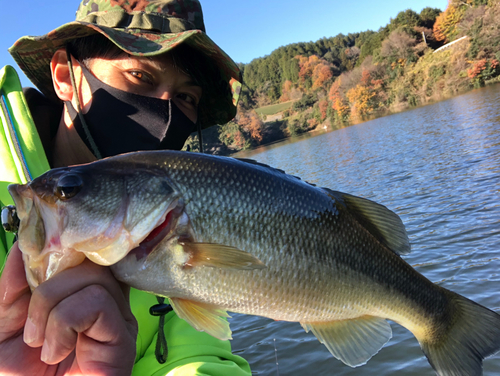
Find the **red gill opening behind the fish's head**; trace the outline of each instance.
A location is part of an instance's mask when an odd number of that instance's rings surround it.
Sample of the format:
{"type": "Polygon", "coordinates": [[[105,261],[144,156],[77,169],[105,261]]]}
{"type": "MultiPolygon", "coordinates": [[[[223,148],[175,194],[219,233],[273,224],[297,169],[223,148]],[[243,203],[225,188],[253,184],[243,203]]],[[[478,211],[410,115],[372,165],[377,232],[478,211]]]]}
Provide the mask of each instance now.
{"type": "Polygon", "coordinates": [[[187,215],[184,213],[184,205],[180,201],[175,201],[167,209],[163,222],[160,222],[126,257],[135,256],[137,261],[147,257],[164,239],[170,239],[177,233],[176,229],[178,229],[178,224],[181,222],[179,219],[182,217],[187,219],[187,215]]]}

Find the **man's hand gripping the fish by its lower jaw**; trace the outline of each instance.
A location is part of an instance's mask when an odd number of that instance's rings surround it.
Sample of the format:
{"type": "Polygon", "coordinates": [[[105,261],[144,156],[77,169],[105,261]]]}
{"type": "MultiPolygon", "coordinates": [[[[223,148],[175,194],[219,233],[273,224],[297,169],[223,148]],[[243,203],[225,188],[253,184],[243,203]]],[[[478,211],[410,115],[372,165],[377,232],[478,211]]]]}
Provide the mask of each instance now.
{"type": "Polygon", "coordinates": [[[128,296],[88,260],[31,294],[16,243],[0,278],[0,374],[130,374],[137,323],[128,296]]]}

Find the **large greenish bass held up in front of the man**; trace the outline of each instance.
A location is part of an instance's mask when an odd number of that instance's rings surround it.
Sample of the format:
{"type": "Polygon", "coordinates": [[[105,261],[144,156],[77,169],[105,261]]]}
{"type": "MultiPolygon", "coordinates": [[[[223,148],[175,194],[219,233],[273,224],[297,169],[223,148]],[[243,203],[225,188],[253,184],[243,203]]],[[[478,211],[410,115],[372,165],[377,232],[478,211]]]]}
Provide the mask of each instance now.
{"type": "Polygon", "coordinates": [[[252,160],[123,154],[10,185],[36,288],[85,258],[167,297],[195,329],[231,339],[227,312],[299,322],[344,364],[408,329],[438,375],[481,375],[500,315],[404,261],[399,216],[252,160]]]}

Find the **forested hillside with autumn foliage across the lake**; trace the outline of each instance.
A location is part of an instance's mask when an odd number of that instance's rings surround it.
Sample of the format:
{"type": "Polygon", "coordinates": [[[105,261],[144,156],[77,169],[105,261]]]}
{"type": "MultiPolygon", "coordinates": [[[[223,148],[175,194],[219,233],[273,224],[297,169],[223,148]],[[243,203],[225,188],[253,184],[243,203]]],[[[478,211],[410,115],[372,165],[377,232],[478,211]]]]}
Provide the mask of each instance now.
{"type": "Polygon", "coordinates": [[[238,115],[211,131],[212,143],[237,151],[440,100],[500,81],[499,61],[500,0],[408,9],[378,31],[294,43],[240,64],[238,115]]]}

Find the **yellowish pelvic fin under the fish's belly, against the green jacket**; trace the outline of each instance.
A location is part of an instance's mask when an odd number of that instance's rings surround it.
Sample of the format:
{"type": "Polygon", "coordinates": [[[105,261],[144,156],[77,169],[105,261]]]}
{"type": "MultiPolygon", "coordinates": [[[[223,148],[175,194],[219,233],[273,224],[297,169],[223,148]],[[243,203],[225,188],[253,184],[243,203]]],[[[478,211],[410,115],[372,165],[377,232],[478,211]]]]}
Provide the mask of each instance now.
{"type": "Polygon", "coordinates": [[[223,341],[232,339],[229,323],[225,319],[230,316],[225,310],[181,298],[170,298],[170,304],[177,316],[186,320],[196,330],[223,341]]]}

